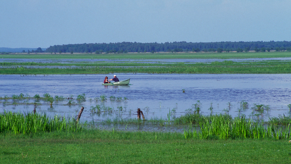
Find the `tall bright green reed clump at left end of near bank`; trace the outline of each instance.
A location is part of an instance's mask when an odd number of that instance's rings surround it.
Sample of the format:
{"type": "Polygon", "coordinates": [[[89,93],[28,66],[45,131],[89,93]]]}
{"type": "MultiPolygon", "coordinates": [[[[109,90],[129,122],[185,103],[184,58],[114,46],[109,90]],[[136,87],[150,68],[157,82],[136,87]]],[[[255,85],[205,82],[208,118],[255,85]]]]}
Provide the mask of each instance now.
{"type": "Polygon", "coordinates": [[[54,116],[38,113],[14,113],[6,112],[0,114],[0,133],[12,132],[15,134],[53,132],[53,131],[81,131],[81,124],[73,118],[54,116]]]}

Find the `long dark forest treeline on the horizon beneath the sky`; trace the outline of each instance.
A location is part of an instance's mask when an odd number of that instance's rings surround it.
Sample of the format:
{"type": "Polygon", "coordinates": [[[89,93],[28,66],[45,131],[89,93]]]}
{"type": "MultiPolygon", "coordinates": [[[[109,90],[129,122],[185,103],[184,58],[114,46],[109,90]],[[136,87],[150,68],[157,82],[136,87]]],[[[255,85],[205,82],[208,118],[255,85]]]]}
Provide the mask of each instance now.
{"type": "Polygon", "coordinates": [[[54,45],[46,49],[50,53],[127,53],[127,52],[247,52],[247,51],[291,51],[291,41],[256,41],[256,42],[210,42],[210,43],[192,43],[192,42],[166,42],[166,43],[84,43],[54,45]]]}

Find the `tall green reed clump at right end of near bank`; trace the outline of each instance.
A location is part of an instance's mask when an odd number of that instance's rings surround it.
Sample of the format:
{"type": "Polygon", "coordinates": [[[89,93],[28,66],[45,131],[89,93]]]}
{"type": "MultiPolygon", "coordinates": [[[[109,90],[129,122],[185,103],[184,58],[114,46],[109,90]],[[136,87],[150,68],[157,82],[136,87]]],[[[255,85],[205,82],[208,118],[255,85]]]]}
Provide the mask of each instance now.
{"type": "Polygon", "coordinates": [[[264,124],[246,119],[244,116],[230,119],[222,114],[201,117],[196,128],[192,122],[188,129],[184,129],[186,139],[290,139],[290,124],[277,125],[275,122],[264,124]]]}

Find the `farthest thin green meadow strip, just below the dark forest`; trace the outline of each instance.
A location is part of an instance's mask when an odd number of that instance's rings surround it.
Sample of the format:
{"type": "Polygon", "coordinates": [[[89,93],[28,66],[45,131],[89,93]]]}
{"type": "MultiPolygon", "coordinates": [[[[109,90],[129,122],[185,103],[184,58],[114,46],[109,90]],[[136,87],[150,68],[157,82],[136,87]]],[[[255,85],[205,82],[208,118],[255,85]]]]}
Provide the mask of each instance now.
{"type": "Polygon", "coordinates": [[[247,52],[247,53],[126,53],[126,54],[0,54],[9,59],[246,59],[291,57],[291,52],[247,52]]]}

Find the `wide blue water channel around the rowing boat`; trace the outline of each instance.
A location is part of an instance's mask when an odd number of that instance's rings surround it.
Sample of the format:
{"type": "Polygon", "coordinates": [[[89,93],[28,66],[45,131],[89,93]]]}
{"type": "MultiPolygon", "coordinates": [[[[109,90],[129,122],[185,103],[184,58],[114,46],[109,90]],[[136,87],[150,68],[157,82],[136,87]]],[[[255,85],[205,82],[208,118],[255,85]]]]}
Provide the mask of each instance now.
{"type": "MultiPolygon", "coordinates": [[[[77,105],[65,105],[69,100],[49,103],[40,101],[37,112],[49,115],[59,114],[75,116],[84,106],[82,120],[106,120],[118,118],[136,118],[137,108],[141,108],[146,119],[167,119],[169,110],[175,110],[175,117],[185,114],[185,110],[194,110],[193,104],[200,101],[201,113],[209,115],[210,105],[213,114],[229,112],[233,117],[245,114],[253,117],[251,107],[255,104],[269,105],[264,118],[290,116],[288,104],[291,104],[291,74],[117,74],[120,80],[131,78],[128,86],[102,86],[104,77],[112,75],[0,75],[0,96],[28,94],[34,96],[48,93],[51,96],[73,97],[78,103],[78,95],[85,94],[86,101],[77,105]],[[182,91],[185,91],[184,93],[182,91]],[[96,97],[107,96],[107,101],[96,101],[96,97]],[[120,102],[111,101],[110,96],[121,97],[120,102]],[[124,98],[128,100],[124,100],[124,98]],[[241,109],[242,100],[249,103],[247,109],[241,109]],[[230,107],[229,107],[230,103],[230,107]],[[110,107],[113,112],[91,113],[91,106],[110,107]],[[122,110],[120,110],[122,107],[122,110]]],[[[8,102],[13,100],[8,100],[8,102]]],[[[19,100],[22,103],[27,100],[19,100]]],[[[34,102],[35,100],[28,100],[34,102]]],[[[34,105],[6,105],[0,100],[0,112],[31,112],[34,105]]],[[[173,114],[173,113],[172,113],[173,114]]],[[[173,115],[172,115],[173,117],[173,115]]]]}

